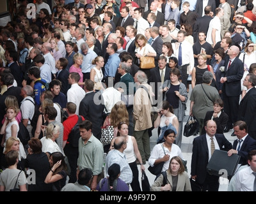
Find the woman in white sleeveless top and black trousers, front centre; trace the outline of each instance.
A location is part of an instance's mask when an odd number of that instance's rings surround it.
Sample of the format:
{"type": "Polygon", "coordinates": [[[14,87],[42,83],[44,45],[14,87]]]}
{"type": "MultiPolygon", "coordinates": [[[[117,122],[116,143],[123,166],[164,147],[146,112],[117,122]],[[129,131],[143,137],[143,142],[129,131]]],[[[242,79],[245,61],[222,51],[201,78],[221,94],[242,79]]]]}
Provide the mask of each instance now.
{"type": "MultiPolygon", "coordinates": [[[[139,182],[139,172],[136,159],[140,163],[140,170],[145,171],[145,166],[143,166],[140,151],[134,136],[128,135],[128,124],[126,122],[120,122],[117,126],[118,133],[117,136],[124,136],[127,140],[127,147],[124,150],[127,162],[132,170],[132,182],[131,187],[132,191],[141,191],[140,182],[139,182]]],[[[111,145],[114,144],[115,138],[111,141],[111,145]]]]}

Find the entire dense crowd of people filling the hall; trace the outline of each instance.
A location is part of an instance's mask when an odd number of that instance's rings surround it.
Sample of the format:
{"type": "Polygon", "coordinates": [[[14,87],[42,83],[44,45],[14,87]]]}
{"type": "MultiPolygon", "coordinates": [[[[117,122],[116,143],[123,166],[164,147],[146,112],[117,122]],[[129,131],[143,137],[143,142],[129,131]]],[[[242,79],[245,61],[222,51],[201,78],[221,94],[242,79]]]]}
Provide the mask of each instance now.
{"type": "Polygon", "coordinates": [[[255,1],[18,2],[0,27],[1,191],[15,180],[20,191],[141,191],[147,162],[166,172],[152,191],[193,191],[180,150],[187,108],[198,122],[191,179],[218,191],[206,166],[227,150],[251,165],[233,191],[253,191],[255,1]],[[143,69],[146,57],[154,65],[143,69]],[[107,125],[113,140],[102,145],[107,125]],[[31,170],[36,184],[25,182],[31,170]]]}

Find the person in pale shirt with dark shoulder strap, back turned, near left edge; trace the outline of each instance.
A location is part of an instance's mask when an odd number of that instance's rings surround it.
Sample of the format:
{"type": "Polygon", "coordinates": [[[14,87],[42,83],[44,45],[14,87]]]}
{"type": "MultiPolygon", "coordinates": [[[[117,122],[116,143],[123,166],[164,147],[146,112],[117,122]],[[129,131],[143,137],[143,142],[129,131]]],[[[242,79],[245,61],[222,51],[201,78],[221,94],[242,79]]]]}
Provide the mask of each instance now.
{"type": "Polygon", "coordinates": [[[22,98],[24,98],[20,104],[20,111],[22,112],[22,123],[28,129],[30,137],[32,137],[32,126],[30,121],[33,119],[35,113],[35,101],[31,97],[33,93],[34,89],[31,87],[31,85],[24,85],[20,92],[20,95],[22,98]]]}

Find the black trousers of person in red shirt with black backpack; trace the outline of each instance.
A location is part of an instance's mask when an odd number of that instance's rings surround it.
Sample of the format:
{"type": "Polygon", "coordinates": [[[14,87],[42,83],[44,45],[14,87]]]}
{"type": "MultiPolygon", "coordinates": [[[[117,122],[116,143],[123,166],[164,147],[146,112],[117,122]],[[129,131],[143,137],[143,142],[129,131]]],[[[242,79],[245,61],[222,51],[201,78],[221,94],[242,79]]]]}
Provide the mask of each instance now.
{"type": "Polygon", "coordinates": [[[64,153],[68,157],[68,163],[70,165],[70,175],[68,183],[75,183],[76,178],[76,168],[77,168],[77,159],[78,159],[78,147],[72,147],[70,143],[65,145],[64,153]]]}

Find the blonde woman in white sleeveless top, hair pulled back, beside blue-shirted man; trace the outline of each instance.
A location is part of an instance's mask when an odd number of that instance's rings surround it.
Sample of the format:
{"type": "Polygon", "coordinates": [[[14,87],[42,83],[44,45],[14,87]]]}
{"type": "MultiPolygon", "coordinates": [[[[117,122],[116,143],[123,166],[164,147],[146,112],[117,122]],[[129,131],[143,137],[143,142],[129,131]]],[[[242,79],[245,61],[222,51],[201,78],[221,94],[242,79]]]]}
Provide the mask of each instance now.
{"type": "Polygon", "coordinates": [[[103,79],[102,68],[104,66],[104,58],[102,56],[97,56],[95,57],[95,59],[92,60],[92,64],[95,64],[90,72],[90,80],[94,82],[93,89],[95,91],[104,90],[101,82],[103,79]]]}

